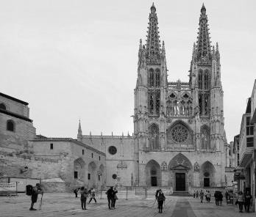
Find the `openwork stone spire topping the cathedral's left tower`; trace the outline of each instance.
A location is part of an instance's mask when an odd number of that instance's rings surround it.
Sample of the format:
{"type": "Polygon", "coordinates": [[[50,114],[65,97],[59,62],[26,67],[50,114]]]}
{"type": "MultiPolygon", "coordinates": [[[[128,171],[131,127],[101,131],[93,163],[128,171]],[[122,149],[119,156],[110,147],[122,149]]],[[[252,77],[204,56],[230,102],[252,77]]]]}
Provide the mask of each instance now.
{"type": "Polygon", "coordinates": [[[150,8],[148,36],[146,40],[147,62],[158,62],[160,60],[160,40],[158,36],[157,13],[154,3],[150,8]]]}

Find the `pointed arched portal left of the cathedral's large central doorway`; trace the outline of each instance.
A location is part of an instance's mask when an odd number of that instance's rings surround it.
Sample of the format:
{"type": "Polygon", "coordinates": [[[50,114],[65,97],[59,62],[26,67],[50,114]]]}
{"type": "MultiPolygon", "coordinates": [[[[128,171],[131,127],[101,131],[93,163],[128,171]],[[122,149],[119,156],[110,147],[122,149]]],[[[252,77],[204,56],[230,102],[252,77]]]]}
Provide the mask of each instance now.
{"type": "Polygon", "coordinates": [[[161,169],[157,161],[151,160],[148,163],[146,163],[146,185],[161,185],[161,169]]]}

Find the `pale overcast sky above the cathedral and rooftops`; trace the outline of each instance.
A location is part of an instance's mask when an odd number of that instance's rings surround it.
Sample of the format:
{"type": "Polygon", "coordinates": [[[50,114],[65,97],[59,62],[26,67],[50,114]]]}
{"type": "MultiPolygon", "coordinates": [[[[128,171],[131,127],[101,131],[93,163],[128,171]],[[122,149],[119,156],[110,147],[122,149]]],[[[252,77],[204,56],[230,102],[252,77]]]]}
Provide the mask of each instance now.
{"type": "MultiPolygon", "coordinates": [[[[154,1],[168,81],[188,81],[203,1],[154,1]]],[[[256,78],[256,1],[204,1],[221,54],[228,141],[240,131],[256,78]]],[[[139,40],[152,1],[0,1],[0,92],[29,103],[38,134],[127,135],[139,40]]]]}

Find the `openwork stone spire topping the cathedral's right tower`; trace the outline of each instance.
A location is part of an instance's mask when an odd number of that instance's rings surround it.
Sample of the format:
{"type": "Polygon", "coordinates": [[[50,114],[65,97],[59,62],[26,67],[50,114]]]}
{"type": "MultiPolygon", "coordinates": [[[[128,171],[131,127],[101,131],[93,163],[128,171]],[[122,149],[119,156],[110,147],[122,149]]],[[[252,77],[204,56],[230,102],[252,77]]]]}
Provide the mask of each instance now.
{"type": "Polygon", "coordinates": [[[211,60],[211,50],[210,50],[210,37],[207,24],[207,15],[205,5],[202,5],[201,15],[199,19],[199,35],[196,44],[196,59],[202,62],[208,62],[211,60]]]}

